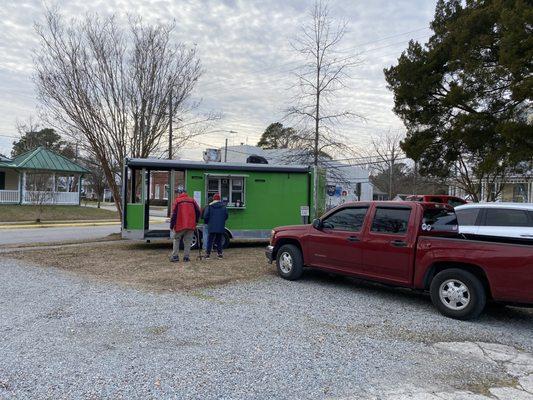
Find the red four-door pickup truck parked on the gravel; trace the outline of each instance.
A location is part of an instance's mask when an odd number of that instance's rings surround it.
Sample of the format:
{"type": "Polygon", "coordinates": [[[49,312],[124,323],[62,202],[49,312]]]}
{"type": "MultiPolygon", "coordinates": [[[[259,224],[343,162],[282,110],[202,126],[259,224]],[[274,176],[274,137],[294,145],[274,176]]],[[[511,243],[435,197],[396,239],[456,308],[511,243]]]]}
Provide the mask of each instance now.
{"type": "Polygon", "coordinates": [[[487,300],[533,305],[533,240],[461,235],[443,204],[344,204],[312,225],[275,228],[266,255],[289,280],[305,266],[429,290],[457,319],[479,316],[487,300]]]}

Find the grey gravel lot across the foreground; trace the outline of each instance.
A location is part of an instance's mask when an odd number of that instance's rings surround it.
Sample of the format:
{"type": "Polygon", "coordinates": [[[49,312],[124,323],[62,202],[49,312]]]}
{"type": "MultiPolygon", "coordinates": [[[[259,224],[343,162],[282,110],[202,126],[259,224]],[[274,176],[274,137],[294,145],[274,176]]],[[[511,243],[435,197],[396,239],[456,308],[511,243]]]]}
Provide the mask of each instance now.
{"type": "Polygon", "coordinates": [[[533,360],[533,310],[454,321],[423,295],[318,272],[157,294],[0,258],[0,315],[2,399],[482,399],[526,373],[443,342],[533,360]]]}

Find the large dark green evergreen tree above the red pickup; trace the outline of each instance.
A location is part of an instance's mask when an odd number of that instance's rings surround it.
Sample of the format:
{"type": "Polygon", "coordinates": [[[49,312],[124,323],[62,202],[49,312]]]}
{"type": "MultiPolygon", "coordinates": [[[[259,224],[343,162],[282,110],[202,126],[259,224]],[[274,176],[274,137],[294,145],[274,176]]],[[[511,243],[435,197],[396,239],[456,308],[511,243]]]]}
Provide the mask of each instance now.
{"type": "Polygon", "coordinates": [[[385,69],[421,173],[456,176],[478,200],[481,180],[531,161],[531,21],[531,1],[439,0],[429,42],[385,69]]]}

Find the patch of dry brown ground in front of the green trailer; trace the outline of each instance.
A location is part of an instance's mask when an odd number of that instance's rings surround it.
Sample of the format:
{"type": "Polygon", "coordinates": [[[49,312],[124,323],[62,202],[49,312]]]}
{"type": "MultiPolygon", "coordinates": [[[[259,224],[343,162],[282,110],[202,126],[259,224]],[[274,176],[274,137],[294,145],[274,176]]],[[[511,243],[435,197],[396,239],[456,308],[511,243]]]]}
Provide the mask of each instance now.
{"type": "Polygon", "coordinates": [[[222,260],[198,260],[196,250],[189,263],[171,263],[170,252],[170,243],[117,241],[19,249],[3,256],[151,291],[193,290],[275,273],[263,245],[226,249],[222,260]]]}

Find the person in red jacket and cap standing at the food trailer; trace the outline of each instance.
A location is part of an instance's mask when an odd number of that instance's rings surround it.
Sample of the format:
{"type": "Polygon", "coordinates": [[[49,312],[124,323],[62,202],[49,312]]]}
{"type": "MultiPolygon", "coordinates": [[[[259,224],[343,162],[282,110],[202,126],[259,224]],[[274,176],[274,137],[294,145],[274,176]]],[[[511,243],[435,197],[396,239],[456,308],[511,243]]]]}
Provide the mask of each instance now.
{"type": "Polygon", "coordinates": [[[174,201],[172,217],[170,218],[170,231],[174,239],[170,261],[178,262],[180,260],[180,242],[183,239],[183,261],[187,262],[190,260],[189,254],[194,230],[200,219],[200,207],[194,199],[187,195],[183,186],[178,186],[176,193],[178,197],[174,201]]]}

